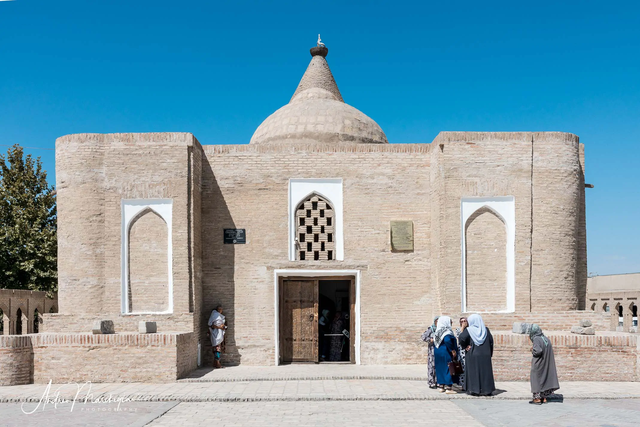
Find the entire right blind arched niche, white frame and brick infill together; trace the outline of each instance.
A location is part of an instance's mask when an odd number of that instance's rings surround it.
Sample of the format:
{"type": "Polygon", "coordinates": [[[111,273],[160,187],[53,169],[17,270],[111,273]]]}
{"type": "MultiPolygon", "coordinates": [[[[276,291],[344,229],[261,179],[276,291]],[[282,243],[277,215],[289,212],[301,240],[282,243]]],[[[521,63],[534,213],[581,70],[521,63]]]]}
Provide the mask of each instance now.
{"type": "Polygon", "coordinates": [[[515,312],[515,228],[513,196],[461,198],[463,312],[515,312]],[[485,278],[483,272],[495,277],[485,278]]]}

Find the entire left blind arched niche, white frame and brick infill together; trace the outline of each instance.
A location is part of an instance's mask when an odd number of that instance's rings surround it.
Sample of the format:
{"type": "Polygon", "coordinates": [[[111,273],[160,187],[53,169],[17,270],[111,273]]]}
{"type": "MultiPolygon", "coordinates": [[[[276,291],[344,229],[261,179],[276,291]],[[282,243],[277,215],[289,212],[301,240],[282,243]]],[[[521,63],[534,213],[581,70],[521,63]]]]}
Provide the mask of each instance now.
{"type": "MultiPolygon", "coordinates": [[[[172,252],[172,211],[173,200],[170,198],[132,198],[122,199],[122,229],[120,230],[121,245],[121,262],[120,262],[120,282],[121,282],[121,311],[123,314],[166,314],[173,312],[173,252],[172,252]],[[141,255],[145,251],[151,261],[155,261],[156,266],[162,268],[149,268],[143,263],[140,266],[131,266],[130,249],[131,249],[131,232],[134,232],[134,238],[141,237],[140,243],[134,243],[134,251],[138,251],[141,255]],[[145,232],[152,234],[148,239],[144,239],[145,232]],[[160,241],[158,240],[160,238],[160,241]],[[166,241],[166,243],[165,243],[166,241]],[[166,245],[166,246],[165,246],[166,245]],[[161,259],[157,259],[161,254],[161,259]],[[166,265],[164,264],[164,254],[166,254],[166,265]],[[133,267],[133,269],[132,269],[133,267]],[[131,273],[136,271],[156,270],[145,293],[143,289],[132,289],[131,273]],[[166,271],[166,275],[164,275],[166,271]],[[166,287],[166,293],[164,288],[166,287]],[[156,295],[159,289],[163,289],[160,295],[156,295]],[[133,292],[132,292],[133,291],[133,292]],[[136,295],[144,298],[138,304],[136,295]],[[166,298],[165,298],[166,295],[166,298]],[[134,306],[133,303],[136,303],[134,306]],[[142,307],[140,309],[139,307],[142,307]]],[[[135,254],[134,254],[135,255],[135,254]]],[[[145,257],[141,256],[141,262],[147,262],[145,257]]],[[[133,262],[136,262],[134,259],[133,262]]],[[[152,271],[154,272],[154,271],[152,271]]],[[[140,285],[144,280],[136,280],[140,285]]]]}

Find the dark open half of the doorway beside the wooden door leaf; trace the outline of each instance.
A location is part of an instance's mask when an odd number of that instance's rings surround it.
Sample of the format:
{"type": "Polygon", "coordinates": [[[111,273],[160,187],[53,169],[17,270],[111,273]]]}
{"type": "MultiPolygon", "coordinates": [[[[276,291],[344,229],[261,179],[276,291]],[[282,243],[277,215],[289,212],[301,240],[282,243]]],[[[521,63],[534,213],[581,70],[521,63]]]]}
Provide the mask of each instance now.
{"type": "Polygon", "coordinates": [[[318,281],[318,360],[349,362],[351,280],[318,281]],[[345,333],[346,332],[346,333],[345,333]]]}

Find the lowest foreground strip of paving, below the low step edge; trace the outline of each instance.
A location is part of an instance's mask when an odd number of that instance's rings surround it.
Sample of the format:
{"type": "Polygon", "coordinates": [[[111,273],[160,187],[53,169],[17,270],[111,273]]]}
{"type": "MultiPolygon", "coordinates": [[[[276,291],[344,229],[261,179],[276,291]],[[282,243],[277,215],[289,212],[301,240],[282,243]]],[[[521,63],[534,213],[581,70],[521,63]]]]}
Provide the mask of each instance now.
{"type": "Polygon", "coordinates": [[[0,425],[111,426],[548,426],[626,427],[640,419],[640,399],[136,402],[91,407],[58,405],[23,414],[20,403],[0,404],[0,425]]]}

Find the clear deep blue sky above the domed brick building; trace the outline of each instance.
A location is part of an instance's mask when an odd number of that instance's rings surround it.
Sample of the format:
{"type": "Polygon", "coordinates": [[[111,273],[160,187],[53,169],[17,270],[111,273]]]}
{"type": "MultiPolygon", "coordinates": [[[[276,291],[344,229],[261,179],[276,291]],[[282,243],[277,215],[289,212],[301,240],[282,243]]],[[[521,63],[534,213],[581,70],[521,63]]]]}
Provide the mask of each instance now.
{"type": "MultiPolygon", "coordinates": [[[[578,134],[595,184],[589,272],[640,271],[636,2],[0,1],[0,144],[149,131],[248,143],[289,101],[317,33],[345,101],[391,142],[578,134]]],[[[27,152],[53,182],[54,152],[27,152]]]]}

